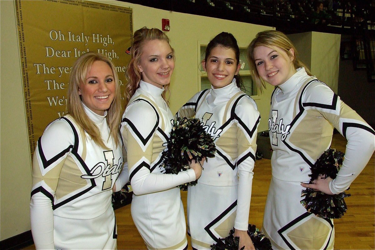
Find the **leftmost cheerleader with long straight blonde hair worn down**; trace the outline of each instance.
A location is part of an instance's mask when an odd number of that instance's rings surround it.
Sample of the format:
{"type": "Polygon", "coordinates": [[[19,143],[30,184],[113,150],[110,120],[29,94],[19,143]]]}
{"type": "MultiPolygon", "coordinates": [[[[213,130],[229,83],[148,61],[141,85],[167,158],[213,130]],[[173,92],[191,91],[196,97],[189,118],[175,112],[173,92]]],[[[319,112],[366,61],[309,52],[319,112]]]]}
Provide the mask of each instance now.
{"type": "Polygon", "coordinates": [[[120,174],[120,86],[108,57],[87,52],[78,58],[67,109],[46,127],[34,152],[30,219],[35,247],[117,249],[112,192],[128,177],[126,166],[120,174]]]}

